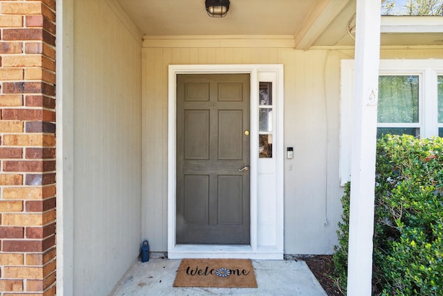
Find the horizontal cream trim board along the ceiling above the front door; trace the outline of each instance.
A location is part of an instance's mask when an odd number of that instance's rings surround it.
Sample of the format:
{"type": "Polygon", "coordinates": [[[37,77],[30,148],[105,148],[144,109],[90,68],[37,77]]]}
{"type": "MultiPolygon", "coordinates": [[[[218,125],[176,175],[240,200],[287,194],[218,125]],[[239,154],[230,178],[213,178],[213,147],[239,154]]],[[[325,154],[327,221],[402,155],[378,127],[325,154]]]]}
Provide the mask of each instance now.
{"type": "Polygon", "coordinates": [[[145,35],[144,48],[186,47],[186,48],[291,48],[293,35],[145,35]]]}

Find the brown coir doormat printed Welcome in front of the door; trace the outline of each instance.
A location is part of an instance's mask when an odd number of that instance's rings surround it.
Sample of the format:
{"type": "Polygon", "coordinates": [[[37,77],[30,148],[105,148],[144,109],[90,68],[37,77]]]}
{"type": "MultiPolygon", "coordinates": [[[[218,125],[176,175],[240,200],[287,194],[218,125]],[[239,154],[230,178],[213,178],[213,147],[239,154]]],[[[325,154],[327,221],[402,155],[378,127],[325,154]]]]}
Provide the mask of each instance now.
{"type": "Polygon", "coordinates": [[[248,259],[183,259],[174,287],[257,288],[248,259]]]}

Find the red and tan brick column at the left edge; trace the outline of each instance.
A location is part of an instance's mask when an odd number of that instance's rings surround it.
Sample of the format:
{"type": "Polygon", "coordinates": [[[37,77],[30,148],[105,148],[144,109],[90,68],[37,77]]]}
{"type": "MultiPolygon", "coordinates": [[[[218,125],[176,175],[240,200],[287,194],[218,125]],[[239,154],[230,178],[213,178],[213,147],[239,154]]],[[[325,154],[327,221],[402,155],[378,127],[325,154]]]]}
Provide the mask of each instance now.
{"type": "Polygon", "coordinates": [[[0,1],[0,295],[55,295],[55,0],[0,1]]]}

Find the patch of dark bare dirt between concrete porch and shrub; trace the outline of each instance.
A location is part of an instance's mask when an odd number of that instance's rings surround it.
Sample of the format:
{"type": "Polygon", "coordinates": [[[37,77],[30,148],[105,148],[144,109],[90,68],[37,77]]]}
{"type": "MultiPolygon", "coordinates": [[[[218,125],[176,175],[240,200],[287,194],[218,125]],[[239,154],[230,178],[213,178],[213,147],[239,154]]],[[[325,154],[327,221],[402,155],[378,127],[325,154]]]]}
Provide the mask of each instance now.
{"type": "Polygon", "coordinates": [[[300,258],[300,260],[307,263],[328,296],[343,296],[341,290],[337,288],[334,278],[330,276],[334,274],[332,255],[305,256],[300,258]]]}

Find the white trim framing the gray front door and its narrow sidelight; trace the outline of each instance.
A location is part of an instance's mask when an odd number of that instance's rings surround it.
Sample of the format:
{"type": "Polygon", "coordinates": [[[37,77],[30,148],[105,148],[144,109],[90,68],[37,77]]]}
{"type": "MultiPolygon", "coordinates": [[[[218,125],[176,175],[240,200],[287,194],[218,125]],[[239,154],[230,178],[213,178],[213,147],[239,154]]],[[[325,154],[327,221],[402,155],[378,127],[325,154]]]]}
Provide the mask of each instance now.
{"type": "MultiPolygon", "coordinates": [[[[170,65],[168,71],[168,258],[283,258],[283,66],[282,64],[170,65]],[[176,243],[176,149],[177,74],[248,73],[251,76],[251,245],[177,245],[176,243]],[[258,82],[275,77],[275,131],[273,159],[258,157],[258,82]],[[260,168],[261,167],[261,168],[260,168]],[[265,198],[260,199],[258,179],[262,168],[271,167],[265,198]],[[271,195],[271,196],[269,196],[271,195]],[[266,204],[264,203],[266,200],[266,204]],[[271,200],[271,204],[269,203],[271,200]],[[266,214],[264,214],[266,209],[266,214]],[[266,217],[264,217],[266,216],[266,217]]],[[[263,195],[263,194],[262,194],[263,195]]]]}

